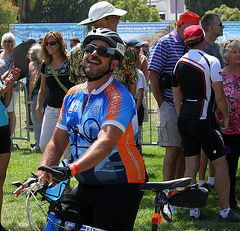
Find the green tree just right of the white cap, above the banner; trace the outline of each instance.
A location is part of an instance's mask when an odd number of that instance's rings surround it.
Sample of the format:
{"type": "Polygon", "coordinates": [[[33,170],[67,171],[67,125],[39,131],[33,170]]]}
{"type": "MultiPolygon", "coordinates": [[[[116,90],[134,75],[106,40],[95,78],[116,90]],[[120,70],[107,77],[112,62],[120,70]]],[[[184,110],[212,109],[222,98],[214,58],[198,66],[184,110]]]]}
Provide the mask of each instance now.
{"type": "Polygon", "coordinates": [[[115,7],[126,10],[128,13],[121,17],[122,21],[129,22],[160,22],[161,17],[155,7],[149,8],[147,0],[108,0],[115,7]]]}

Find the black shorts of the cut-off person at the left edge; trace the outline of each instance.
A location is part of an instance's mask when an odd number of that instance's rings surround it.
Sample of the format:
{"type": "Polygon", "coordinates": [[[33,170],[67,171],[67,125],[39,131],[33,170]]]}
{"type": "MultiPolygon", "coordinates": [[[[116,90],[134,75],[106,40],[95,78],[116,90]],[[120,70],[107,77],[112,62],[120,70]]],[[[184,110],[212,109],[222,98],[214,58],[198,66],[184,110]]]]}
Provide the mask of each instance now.
{"type": "Polygon", "coordinates": [[[10,127],[9,124],[0,127],[0,154],[10,153],[11,151],[11,139],[10,139],[10,127]]]}

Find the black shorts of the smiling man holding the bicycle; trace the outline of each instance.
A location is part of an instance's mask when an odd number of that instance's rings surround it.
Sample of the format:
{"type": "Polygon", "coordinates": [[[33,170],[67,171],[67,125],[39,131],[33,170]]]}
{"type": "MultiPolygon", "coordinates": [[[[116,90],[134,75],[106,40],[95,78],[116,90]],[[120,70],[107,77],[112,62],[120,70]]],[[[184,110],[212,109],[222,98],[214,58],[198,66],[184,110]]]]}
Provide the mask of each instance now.
{"type": "Polygon", "coordinates": [[[90,186],[78,183],[82,223],[108,231],[132,231],[143,192],[139,184],[90,186]]]}

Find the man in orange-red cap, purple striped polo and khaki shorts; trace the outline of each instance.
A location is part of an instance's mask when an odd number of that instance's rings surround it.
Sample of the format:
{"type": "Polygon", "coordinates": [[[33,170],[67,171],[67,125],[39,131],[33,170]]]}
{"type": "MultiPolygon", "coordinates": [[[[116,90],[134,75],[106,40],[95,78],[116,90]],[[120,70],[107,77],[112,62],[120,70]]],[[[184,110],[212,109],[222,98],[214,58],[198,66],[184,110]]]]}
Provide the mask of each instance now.
{"type": "Polygon", "coordinates": [[[165,181],[182,177],[185,170],[182,140],[173,103],[171,75],[177,61],[188,51],[184,44],[184,29],[193,24],[198,25],[199,19],[200,17],[193,12],[182,14],[177,22],[177,29],[160,38],[153,45],[149,56],[149,79],[158,106],[158,144],[166,147],[163,161],[165,181]]]}

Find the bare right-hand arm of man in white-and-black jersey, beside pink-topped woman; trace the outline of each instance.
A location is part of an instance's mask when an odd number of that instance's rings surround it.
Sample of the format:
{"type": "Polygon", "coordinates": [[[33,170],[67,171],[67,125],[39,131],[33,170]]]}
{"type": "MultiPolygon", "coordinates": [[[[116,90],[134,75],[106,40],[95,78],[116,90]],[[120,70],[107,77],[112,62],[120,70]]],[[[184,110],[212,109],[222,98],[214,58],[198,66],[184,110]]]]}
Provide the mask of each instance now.
{"type": "Polygon", "coordinates": [[[217,103],[217,107],[222,114],[223,121],[219,124],[220,129],[222,132],[226,131],[228,128],[229,123],[229,116],[228,116],[228,103],[225,92],[223,90],[223,82],[213,82],[212,87],[215,93],[215,99],[217,103]]]}

